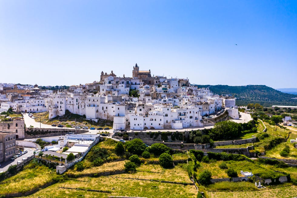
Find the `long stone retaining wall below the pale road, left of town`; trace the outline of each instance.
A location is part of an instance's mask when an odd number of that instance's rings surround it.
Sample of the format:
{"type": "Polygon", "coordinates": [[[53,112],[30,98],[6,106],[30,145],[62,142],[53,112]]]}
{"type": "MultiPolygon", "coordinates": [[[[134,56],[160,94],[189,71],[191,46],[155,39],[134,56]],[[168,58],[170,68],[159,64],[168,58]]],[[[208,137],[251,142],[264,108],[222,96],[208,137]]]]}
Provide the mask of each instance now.
{"type": "Polygon", "coordinates": [[[46,137],[46,136],[59,136],[66,133],[85,133],[86,130],[83,129],[51,129],[51,128],[25,128],[25,138],[36,138],[39,137],[46,137]]]}

